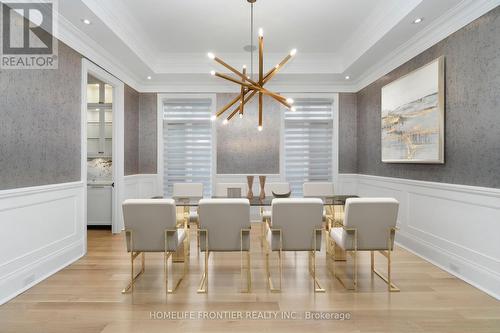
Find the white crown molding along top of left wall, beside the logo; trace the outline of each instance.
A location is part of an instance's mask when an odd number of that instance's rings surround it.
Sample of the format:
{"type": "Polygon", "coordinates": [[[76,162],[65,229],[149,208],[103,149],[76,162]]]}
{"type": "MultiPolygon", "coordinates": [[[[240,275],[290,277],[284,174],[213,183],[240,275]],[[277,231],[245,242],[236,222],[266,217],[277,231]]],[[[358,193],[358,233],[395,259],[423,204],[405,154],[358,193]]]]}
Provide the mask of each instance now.
{"type": "Polygon", "coordinates": [[[134,89],[139,88],[140,81],[133,73],[131,73],[125,64],[116,57],[111,55],[106,49],[99,46],[93,39],[79,30],[58,12],[57,16],[58,29],[55,34],[56,38],[73,48],[82,56],[88,58],[98,66],[102,67],[119,80],[123,81],[134,89]]]}

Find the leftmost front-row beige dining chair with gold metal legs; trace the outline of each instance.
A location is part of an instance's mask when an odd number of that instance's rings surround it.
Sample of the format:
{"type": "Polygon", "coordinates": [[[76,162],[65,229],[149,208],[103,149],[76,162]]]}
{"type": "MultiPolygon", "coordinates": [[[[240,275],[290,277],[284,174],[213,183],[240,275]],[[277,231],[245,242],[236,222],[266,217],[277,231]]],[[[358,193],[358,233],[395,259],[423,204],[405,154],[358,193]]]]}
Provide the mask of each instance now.
{"type": "MultiPolygon", "coordinates": [[[[184,257],[184,271],[182,277],[173,288],[168,287],[168,258],[181,245],[186,244],[187,226],[177,228],[175,216],[175,202],[173,199],[129,199],[122,205],[123,220],[125,223],[125,241],[127,252],[130,252],[131,276],[129,285],[123,293],[134,291],[134,283],[144,273],[145,252],[163,252],[165,268],[165,287],[167,293],[177,289],[187,271],[187,257],[184,257]],[[134,259],[142,257],[141,271],[134,275],[134,259]]],[[[184,251],[186,255],[187,251],[184,251]]],[[[172,263],[173,265],[173,263],[172,263]]],[[[173,267],[173,266],[172,266],[173,267]]]]}

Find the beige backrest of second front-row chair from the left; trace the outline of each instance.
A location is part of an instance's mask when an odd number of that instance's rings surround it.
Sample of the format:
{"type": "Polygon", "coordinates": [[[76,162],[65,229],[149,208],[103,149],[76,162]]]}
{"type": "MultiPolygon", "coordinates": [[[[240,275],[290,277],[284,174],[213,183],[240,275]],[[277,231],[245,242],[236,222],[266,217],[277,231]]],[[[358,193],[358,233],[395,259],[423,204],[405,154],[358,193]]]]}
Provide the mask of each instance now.
{"type": "MultiPolygon", "coordinates": [[[[240,251],[241,229],[250,229],[248,199],[201,199],[200,228],[208,231],[209,251],[240,251]]],[[[245,237],[243,250],[248,249],[245,237]]],[[[200,249],[205,250],[205,237],[200,237],[200,249]]]]}

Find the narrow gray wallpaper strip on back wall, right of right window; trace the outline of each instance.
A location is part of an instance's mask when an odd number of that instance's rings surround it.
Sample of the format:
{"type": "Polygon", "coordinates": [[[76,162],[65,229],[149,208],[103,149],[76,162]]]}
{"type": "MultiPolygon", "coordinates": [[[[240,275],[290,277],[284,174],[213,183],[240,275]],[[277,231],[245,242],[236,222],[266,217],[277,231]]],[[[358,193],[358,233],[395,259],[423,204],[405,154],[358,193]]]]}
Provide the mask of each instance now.
{"type": "Polygon", "coordinates": [[[357,99],[355,93],[339,94],[339,173],[357,173],[357,99]]]}

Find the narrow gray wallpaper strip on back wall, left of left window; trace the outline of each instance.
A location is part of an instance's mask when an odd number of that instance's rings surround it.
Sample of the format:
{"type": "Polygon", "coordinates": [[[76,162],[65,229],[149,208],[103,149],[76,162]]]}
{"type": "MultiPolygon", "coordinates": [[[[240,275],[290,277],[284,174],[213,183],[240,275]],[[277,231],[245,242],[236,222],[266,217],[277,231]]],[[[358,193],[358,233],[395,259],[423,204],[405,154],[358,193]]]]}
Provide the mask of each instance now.
{"type": "Polygon", "coordinates": [[[157,94],[139,94],[139,173],[156,173],[157,94]]]}

